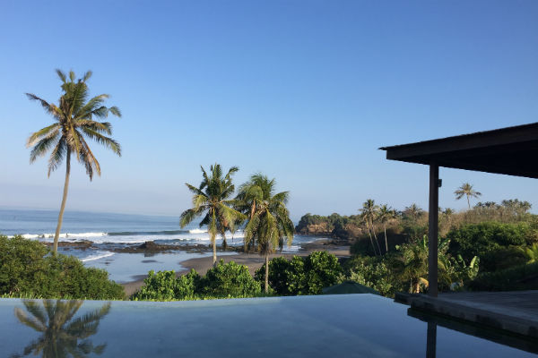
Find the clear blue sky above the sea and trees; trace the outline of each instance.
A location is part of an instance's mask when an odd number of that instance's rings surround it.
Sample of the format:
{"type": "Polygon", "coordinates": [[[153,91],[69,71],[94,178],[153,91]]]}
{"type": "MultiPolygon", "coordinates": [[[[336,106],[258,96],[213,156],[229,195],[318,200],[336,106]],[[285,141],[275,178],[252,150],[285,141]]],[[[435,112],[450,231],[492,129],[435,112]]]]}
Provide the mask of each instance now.
{"type": "MultiPolygon", "coordinates": [[[[74,166],[68,209],[179,215],[214,162],[275,177],[294,219],[426,208],[427,167],[377,148],[538,121],[535,1],[110,3],[3,4],[0,206],[59,207],[64,167],[24,147],[51,118],[23,93],[56,101],[56,68],[91,69],[123,112],[123,157],[95,145],[102,175],[74,166]]],[[[535,180],[440,175],[442,207],[470,182],[538,208],[535,180]]]]}

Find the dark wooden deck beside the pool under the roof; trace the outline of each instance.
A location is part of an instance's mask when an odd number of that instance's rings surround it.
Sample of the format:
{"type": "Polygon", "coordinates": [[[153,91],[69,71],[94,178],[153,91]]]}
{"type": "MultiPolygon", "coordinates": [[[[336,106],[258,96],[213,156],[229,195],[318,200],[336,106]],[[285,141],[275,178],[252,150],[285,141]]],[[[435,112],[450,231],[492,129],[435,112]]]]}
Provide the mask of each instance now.
{"type": "Polygon", "coordinates": [[[538,338],[538,291],[396,294],[395,301],[413,310],[440,314],[483,328],[538,338]]]}

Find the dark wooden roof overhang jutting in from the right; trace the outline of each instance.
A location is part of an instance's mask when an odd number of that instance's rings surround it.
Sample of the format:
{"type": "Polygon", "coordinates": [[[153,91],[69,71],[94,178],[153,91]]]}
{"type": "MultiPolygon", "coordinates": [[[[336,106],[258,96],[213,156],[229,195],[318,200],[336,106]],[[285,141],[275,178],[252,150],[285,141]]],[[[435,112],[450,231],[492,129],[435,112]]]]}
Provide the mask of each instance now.
{"type": "Polygon", "coordinates": [[[380,149],[392,160],[538,178],[538,123],[380,149]]]}

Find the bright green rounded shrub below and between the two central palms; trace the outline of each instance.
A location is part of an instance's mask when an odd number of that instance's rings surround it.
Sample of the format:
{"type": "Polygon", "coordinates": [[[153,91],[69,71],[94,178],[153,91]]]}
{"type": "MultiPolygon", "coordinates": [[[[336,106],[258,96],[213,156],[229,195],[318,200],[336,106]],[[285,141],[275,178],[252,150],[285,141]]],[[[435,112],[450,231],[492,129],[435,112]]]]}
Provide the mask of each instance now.
{"type": "Polygon", "coordinates": [[[260,294],[261,286],[245,265],[221,260],[200,279],[200,294],[213,297],[238,297],[260,294]]]}

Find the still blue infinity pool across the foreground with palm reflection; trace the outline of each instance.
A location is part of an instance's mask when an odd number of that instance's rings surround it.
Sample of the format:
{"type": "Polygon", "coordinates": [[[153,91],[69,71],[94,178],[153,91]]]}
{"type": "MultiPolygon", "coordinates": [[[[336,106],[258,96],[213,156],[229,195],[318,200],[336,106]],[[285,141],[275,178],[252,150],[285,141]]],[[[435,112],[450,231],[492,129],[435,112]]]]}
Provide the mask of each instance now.
{"type": "Polygon", "coordinates": [[[0,355],[536,356],[448,328],[432,330],[407,311],[372,294],[176,303],[3,299],[0,355]]]}

